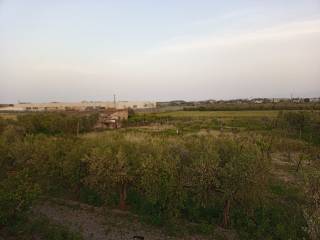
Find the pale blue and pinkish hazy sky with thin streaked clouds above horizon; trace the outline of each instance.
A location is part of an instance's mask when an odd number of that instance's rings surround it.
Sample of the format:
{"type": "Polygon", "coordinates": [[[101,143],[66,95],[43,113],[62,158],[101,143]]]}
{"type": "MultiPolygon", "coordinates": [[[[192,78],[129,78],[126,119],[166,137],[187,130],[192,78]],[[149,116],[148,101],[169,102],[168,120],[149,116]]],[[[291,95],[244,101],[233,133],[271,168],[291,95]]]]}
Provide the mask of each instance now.
{"type": "Polygon", "coordinates": [[[0,0],[0,103],[320,97],[320,0],[0,0]]]}

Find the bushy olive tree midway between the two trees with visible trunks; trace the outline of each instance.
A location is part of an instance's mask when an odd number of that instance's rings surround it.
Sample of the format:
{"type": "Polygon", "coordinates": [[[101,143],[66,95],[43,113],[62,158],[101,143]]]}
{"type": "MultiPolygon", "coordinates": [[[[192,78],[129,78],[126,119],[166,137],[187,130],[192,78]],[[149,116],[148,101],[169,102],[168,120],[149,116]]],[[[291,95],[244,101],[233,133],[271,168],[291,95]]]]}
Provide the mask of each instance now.
{"type": "Polygon", "coordinates": [[[145,200],[153,204],[161,217],[176,218],[186,198],[184,146],[177,139],[153,139],[149,154],[141,158],[139,189],[145,200]]]}

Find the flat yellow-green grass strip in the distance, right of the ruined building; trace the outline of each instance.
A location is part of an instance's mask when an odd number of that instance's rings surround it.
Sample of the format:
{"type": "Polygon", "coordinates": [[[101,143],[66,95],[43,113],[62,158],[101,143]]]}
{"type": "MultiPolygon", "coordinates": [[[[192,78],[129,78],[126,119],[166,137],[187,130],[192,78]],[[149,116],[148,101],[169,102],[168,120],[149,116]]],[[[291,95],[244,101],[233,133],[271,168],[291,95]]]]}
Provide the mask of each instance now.
{"type": "Polygon", "coordinates": [[[131,126],[170,124],[183,132],[219,130],[221,127],[266,130],[277,115],[278,111],[175,111],[137,114],[129,119],[129,123],[131,126]]]}

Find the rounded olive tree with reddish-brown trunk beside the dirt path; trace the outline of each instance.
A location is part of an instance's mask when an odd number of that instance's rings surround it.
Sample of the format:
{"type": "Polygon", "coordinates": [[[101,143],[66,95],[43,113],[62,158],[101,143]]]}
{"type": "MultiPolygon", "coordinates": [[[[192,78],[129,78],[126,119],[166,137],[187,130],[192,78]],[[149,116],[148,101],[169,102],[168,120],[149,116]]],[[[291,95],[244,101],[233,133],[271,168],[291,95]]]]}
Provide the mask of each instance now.
{"type": "Polygon", "coordinates": [[[87,183],[104,196],[118,192],[120,209],[126,208],[127,190],[137,172],[136,145],[120,136],[103,139],[84,160],[87,183]]]}

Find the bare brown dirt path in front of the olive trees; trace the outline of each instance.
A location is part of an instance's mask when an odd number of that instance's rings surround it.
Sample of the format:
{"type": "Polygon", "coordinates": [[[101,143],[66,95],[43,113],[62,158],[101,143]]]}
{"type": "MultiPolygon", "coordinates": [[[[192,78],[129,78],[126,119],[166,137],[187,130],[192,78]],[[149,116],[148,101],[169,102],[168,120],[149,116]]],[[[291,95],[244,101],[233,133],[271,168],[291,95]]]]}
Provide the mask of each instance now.
{"type": "Polygon", "coordinates": [[[74,232],[80,232],[85,240],[127,240],[127,239],[189,239],[204,240],[199,236],[175,238],[161,230],[142,225],[138,218],[130,213],[117,210],[94,208],[76,202],[44,201],[34,208],[34,213],[43,214],[55,223],[67,226],[74,232]],[[140,236],[143,238],[135,238],[140,236]]]}

